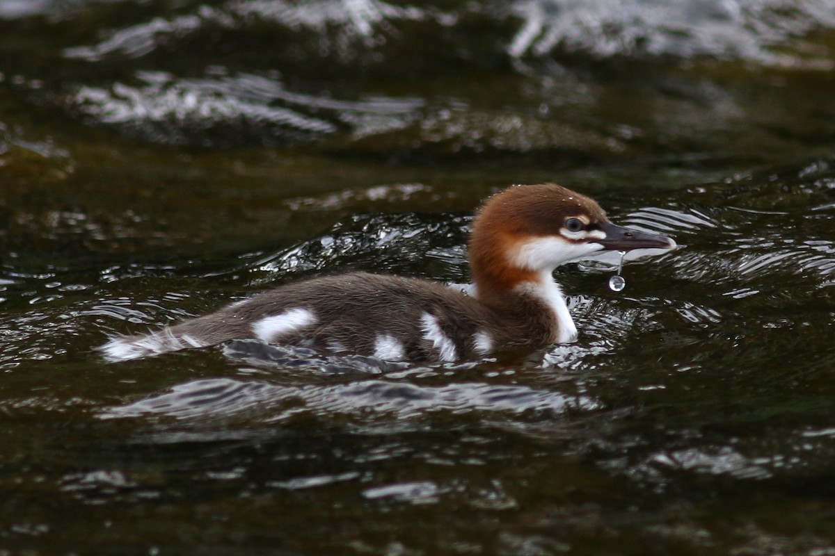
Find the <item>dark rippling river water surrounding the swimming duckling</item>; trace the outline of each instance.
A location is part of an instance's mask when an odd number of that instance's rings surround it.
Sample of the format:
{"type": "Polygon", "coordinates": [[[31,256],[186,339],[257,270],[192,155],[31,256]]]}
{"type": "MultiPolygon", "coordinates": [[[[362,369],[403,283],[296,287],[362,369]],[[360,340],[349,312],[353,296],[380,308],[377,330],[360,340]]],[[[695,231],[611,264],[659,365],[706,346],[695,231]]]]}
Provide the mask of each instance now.
{"type": "Polygon", "coordinates": [[[0,0],[0,554],[835,554],[833,69],[830,0],[0,0]],[[92,352],[546,180],[681,244],[577,343],[92,352]]]}

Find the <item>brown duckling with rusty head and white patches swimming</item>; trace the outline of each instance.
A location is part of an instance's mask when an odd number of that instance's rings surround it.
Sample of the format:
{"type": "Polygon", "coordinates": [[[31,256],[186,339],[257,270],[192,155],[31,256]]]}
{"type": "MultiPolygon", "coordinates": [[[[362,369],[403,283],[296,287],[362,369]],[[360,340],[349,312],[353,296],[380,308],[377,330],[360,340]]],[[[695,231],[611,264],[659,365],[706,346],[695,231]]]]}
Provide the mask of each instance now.
{"type": "Polygon", "coordinates": [[[111,338],[113,361],[256,338],[388,360],[452,362],[571,342],[577,328],[554,268],[591,253],[676,248],[610,223],[591,198],[554,183],[483,203],[469,240],[470,296],[443,283],[370,273],[310,278],[161,331],[111,338]]]}

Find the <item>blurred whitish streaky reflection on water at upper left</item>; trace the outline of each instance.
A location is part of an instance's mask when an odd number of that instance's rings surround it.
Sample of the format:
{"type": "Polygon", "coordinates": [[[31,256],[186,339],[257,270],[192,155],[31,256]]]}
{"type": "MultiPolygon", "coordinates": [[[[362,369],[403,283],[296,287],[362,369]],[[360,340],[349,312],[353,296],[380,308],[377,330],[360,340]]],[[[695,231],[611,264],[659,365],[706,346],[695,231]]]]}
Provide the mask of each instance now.
{"type": "Polygon", "coordinates": [[[98,123],[115,125],[160,143],[237,143],[247,138],[313,139],[350,126],[355,138],[389,133],[416,118],[423,102],[412,98],[368,98],[349,102],[290,93],[277,78],[241,74],[181,79],[139,72],[137,86],[83,86],[73,104],[98,123]]]}

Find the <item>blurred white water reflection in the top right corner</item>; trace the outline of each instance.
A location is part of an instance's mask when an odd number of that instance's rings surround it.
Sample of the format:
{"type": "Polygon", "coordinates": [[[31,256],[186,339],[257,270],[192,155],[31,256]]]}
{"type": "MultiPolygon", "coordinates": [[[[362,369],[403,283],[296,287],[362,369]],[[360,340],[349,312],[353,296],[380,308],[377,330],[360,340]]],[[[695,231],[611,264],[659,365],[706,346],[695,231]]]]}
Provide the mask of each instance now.
{"type": "Polygon", "coordinates": [[[646,3],[528,0],[511,13],[523,25],[509,45],[521,58],[543,56],[558,48],[589,51],[600,57],[672,54],[684,58],[711,55],[759,63],[802,64],[831,68],[826,57],[805,60],[775,48],[818,25],[831,27],[835,16],[825,5],[801,2],[786,11],[779,2],[646,3]]]}

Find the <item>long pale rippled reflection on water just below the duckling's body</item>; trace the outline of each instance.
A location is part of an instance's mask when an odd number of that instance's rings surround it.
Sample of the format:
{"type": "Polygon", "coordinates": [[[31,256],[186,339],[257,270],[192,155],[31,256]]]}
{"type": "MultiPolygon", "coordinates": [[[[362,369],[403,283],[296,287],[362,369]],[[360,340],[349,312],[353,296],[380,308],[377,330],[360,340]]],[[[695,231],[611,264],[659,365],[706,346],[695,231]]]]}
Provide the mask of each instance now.
{"type": "MultiPolygon", "coordinates": [[[[306,363],[313,366],[311,363],[306,363]]],[[[442,373],[449,377],[452,373],[442,373]]],[[[413,378],[413,377],[410,377],[413,378]]],[[[558,415],[569,409],[599,408],[595,400],[525,386],[490,383],[448,383],[426,386],[389,380],[355,378],[348,383],[283,386],[261,381],[214,378],[177,384],[163,393],[108,408],[102,418],[160,415],[206,423],[257,408],[260,423],[284,423],[318,416],[331,419],[360,415],[361,423],[380,418],[420,418],[430,413],[558,415]]]]}

